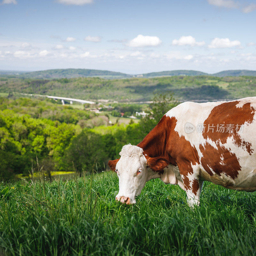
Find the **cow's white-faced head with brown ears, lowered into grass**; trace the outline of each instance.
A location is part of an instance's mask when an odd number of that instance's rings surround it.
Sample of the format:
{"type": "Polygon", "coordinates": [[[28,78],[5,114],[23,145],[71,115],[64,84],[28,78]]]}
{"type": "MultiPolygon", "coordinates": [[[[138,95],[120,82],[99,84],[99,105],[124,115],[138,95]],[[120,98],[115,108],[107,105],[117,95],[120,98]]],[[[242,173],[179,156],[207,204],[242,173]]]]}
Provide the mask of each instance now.
{"type": "Polygon", "coordinates": [[[159,178],[169,162],[163,157],[148,157],[143,149],[125,145],[119,159],[108,161],[109,167],[117,173],[119,192],[116,200],[123,204],[135,204],[135,197],[140,195],[148,180],[159,178]]]}

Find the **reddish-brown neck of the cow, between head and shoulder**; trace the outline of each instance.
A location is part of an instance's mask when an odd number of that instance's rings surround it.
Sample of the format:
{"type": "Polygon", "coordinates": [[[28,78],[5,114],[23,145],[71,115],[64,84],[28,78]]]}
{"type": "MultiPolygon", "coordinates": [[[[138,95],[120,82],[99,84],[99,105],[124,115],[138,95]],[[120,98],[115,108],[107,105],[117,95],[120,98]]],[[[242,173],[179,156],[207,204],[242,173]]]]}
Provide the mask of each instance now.
{"type": "Polygon", "coordinates": [[[148,133],[148,135],[137,145],[150,157],[162,156],[172,163],[171,156],[166,152],[166,142],[172,129],[171,119],[163,116],[159,123],[148,133]]]}

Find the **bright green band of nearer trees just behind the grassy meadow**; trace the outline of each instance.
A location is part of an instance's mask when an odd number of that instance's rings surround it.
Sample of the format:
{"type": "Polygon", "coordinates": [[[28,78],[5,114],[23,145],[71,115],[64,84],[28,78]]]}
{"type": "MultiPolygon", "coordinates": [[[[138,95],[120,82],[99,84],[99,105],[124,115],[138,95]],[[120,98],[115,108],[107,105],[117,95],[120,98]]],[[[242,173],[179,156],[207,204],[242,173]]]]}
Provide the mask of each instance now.
{"type": "Polygon", "coordinates": [[[117,158],[124,144],[138,144],[176,104],[172,97],[157,95],[150,105],[153,114],[139,124],[97,129],[33,118],[7,108],[0,110],[0,177],[27,175],[36,165],[36,158],[45,172],[75,170],[82,174],[104,170],[107,160],[117,158]]]}

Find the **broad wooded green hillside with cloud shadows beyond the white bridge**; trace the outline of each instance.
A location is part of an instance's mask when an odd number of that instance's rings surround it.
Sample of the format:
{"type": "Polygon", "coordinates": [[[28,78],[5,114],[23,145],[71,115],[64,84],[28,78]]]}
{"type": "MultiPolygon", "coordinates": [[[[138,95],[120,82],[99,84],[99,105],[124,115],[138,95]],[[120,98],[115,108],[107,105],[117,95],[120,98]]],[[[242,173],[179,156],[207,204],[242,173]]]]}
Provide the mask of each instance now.
{"type": "Polygon", "coordinates": [[[76,77],[21,79],[0,77],[0,93],[28,93],[97,101],[140,102],[154,93],[172,92],[180,101],[231,100],[256,96],[255,76],[165,76],[103,79],[76,77]]]}

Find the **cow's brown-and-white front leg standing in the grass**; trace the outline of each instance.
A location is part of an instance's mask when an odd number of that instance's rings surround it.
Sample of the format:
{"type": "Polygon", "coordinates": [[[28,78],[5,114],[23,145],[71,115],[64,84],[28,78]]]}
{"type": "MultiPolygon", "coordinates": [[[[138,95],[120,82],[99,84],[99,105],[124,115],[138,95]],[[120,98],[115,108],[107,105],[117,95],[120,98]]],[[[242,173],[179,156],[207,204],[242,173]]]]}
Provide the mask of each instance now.
{"type": "Polygon", "coordinates": [[[199,167],[191,166],[190,163],[181,164],[179,170],[187,194],[188,205],[194,208],[195,205],[200,204],[200,194],[204,183],[198,179],[199,167]]]}

